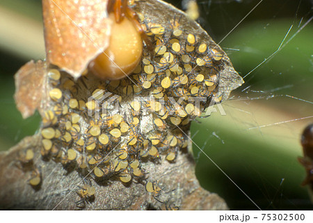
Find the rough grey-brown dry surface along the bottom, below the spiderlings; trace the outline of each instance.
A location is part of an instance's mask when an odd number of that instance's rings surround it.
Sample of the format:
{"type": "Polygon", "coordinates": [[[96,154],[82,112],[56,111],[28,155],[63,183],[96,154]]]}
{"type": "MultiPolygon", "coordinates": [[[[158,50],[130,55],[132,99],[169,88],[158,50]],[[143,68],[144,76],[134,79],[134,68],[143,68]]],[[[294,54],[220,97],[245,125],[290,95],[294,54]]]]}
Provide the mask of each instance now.
{"type": "MultiPolygon", "coordinates": [[[[77,171],[67,171],[62,164],[42,160],[40,135],[26,137],[17,146],[0,154],[0,208],[22,210],[74,210],[79,196],[75,188],[82,180],[77,171]],[[27,148],[35,151],[34,164],[41,167],[42,184],[32,187],[28,180],[31,171],[18,160],[27,148]]],[[[85,210],[151,210],[179,206],[181,210],[226,210],[227,205],[217,194],[200,187],[195,177],[195,163],[191,154],[180,152],[176,162],[145,162],[148,176],[158,180],[164,190],[154,199],[144,183],[121,183],[111,180],[108,185],[94,183],[95,200],[86,203],[85,210]]]]}

